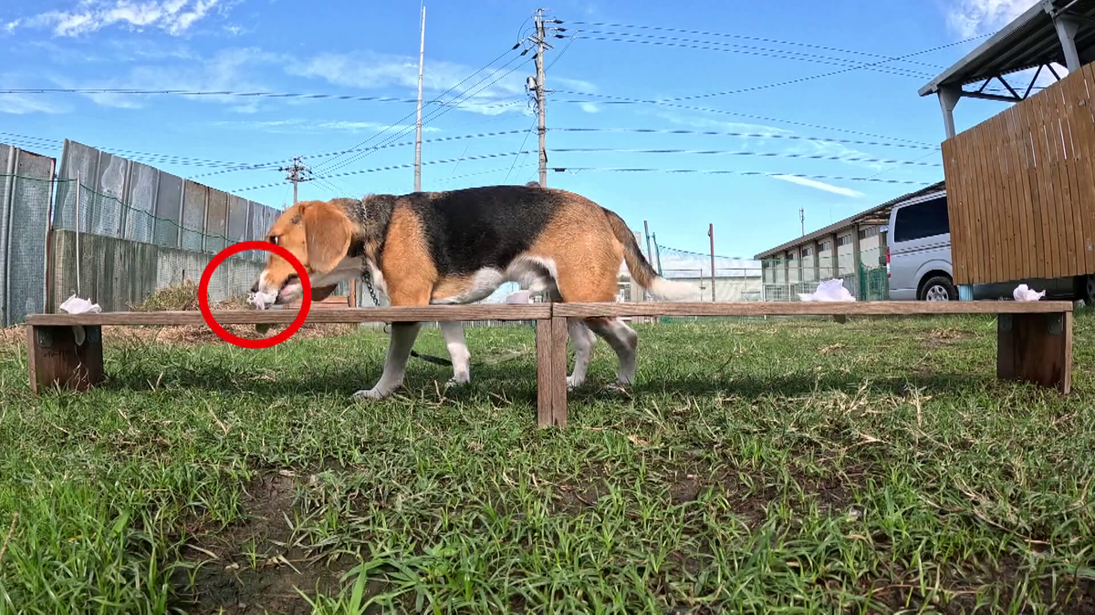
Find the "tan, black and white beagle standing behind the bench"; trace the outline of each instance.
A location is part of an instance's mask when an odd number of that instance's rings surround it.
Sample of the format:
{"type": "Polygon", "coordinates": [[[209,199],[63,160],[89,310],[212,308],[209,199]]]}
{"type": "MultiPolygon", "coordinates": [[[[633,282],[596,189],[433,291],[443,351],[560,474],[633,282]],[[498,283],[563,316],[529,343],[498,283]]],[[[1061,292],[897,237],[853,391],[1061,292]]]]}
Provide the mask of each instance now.
{"type": "MultiPolygon", "coordinates": [[[[556,302],[613,302],[621,262],[659,299],[696,293],[658,276],[619,216],[579,195],[538,186],[300,202],[278,217],[267,241],[300,259],[313,301],[330,295],[339,281],[368,274],[391,305],[472,303],[508,281],[546,290],[556,302]]],[[[302,293],[292,266],[274,254],[251,290],[258,308],[290,303],[302,293]]],[[[355,398],[381,399],[403,384],[419,327],[392,324],[383,373],[355,398]]],[[[440,328],[452,358],[450,384],[469,382],[462,324],[440,323],[440,328]]],[[[632,383],[637,335],[631,327],[620,318],[573,318],[567,329],[575,350],[568,386],[586,379],[593,334],[616,352],[619,382],[632,383]]]]}

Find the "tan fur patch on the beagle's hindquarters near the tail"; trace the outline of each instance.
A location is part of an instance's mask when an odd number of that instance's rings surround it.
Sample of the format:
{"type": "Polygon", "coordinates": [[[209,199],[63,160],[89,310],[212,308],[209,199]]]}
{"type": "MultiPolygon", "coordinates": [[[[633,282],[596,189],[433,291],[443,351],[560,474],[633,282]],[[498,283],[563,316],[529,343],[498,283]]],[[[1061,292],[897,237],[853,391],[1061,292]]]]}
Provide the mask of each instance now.
{"type": "Polygon", "coordinates": [[[528,255],[555,263],[563,301],[614,301],[623,246],[600,207],[585,197],[557,193],[565,200],[528,255]]]}

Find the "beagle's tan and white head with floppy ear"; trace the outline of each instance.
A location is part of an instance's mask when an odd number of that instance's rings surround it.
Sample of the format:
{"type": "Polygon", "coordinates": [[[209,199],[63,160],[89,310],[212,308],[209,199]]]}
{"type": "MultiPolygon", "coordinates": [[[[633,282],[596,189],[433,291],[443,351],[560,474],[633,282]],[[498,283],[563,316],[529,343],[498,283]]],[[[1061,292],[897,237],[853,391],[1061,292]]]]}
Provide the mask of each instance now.
{"type": "MultiPolygon", "coordinates": [[[[347,259],[354,239],[354,223],[338,206],[326,201],[304,201],[285,210],[274,222],[266,241],[289,251],[308,271],[312,301],[322,301],[343,279],[354,276],[347,259]]],[[[267,303],[291,303],[303,295],[303,286],[292,265],[270,253],[266,268],[251,287],[267,303]]]]}

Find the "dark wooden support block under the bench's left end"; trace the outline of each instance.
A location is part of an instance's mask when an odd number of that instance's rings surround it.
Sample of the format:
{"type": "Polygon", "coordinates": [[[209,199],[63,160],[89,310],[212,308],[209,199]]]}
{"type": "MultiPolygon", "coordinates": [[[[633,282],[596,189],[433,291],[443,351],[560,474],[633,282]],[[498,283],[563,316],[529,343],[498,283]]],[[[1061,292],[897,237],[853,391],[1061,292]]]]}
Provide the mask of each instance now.
{"type": "Polygon", "coordinates": [[[103,332],[83,326],[82,344],[71,326],[26,327],[26,359],[31,390],[41,393],[53,386],[88,391],[103,382],[103,332]]]}

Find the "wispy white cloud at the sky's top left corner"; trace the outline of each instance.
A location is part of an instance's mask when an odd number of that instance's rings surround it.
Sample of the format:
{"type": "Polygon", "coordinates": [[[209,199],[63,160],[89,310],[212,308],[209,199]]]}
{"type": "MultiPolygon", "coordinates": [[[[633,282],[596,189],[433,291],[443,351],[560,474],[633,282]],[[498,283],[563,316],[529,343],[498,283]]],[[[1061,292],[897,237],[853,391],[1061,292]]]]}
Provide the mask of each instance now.
{"type": "Polygon", "coordinates": [[[183,34],[205,19],[221,0],[81,0],[68,11],[47,11],[9,22],[4,28],[51,28],[55,36],[80,36],[120,25],[141,31],[162,30],[183,34]]]}

